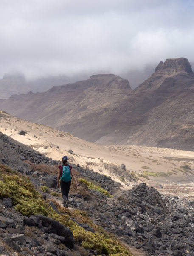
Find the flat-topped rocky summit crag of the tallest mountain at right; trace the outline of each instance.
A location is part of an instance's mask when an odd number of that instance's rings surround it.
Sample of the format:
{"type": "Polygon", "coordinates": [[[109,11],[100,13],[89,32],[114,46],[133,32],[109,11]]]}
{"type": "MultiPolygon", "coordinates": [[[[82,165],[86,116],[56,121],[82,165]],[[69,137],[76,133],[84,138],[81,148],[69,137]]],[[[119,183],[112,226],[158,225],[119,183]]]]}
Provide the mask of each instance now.
{"type": "Polygon", "coordinates": [[[194,74],[187,58],[170,58],[165,62],[160,61],[155,68],[155,73],[180,73],[186,72],[194,74]]]}

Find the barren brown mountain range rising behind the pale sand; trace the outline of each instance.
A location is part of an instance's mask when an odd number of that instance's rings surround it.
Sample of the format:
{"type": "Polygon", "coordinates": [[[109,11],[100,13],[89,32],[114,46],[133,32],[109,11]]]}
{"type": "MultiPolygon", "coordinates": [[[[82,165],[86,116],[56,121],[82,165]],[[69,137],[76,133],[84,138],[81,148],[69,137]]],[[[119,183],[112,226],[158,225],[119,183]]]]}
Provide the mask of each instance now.
{"type": "Polygon", "coordinates": [[[194,73],[167,59],[138,88],[114,75],[11,96],[0,108],[89,141],[194,150],[194,73]],[[24,107],[25,106],[25,107],[24,107]]]}

